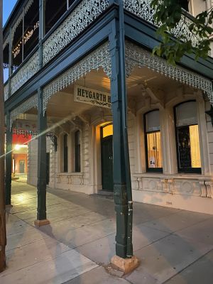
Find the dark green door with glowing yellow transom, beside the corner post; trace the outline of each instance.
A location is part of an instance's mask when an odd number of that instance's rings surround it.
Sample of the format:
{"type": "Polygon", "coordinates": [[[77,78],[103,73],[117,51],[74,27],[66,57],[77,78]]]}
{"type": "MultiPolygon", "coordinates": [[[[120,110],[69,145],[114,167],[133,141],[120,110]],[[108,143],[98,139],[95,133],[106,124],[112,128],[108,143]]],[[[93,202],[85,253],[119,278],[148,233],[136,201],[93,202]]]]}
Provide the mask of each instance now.
{"type": "Polygon", "coordinates": [[[101,128],[102,151],[102,190],[113,191],[113,126],[106,124],[101,128]]]}

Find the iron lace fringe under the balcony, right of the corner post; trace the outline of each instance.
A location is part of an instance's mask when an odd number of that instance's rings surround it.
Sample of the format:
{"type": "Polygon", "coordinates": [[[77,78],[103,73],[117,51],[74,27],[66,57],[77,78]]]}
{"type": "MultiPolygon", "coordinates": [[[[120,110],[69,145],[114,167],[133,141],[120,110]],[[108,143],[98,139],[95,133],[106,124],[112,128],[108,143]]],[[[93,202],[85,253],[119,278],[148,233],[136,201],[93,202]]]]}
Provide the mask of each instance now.
{"type": "Polygon", "coordinates": [[[207,78],[178,65],[170,65],[165,59],[152,55],[152,53],[129,41],[126,41],[125,52],[126,76],[131,75],[131,72],[136,65],[138,67],[148,67],[151,70],[165,75],[173,80],[177,80],[182,84],[188,84],[196,89],[201,89],[205,94],[207,94],[209,102],[213,105],[213,90],[211,80],[208,80],[207,78]]]}

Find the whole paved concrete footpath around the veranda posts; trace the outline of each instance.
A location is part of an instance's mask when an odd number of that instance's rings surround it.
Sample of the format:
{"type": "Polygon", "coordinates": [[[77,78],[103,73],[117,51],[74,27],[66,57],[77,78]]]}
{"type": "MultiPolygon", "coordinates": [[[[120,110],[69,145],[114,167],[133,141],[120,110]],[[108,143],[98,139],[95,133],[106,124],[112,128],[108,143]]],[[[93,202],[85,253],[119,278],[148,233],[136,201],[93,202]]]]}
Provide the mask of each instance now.
{"type": "Polygon", "coordinates": [[[122,275],[109,266],[113,200],[48,189],[50,225],[40,229],[33,225],[35,187],[13,182],[12,204],[1,284],[213,283],[213,215],[134,203],[133,249],[141,266],[122,275]]]}

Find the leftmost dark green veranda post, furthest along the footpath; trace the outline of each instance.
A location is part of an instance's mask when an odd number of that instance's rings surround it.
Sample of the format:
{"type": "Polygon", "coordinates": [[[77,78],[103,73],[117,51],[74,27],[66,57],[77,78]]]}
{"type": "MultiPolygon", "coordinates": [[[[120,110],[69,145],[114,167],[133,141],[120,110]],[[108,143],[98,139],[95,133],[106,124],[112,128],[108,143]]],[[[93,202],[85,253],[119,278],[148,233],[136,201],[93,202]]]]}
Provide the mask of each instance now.
{"type": "Polygon", "coordinates": [[[6,113],[6,177],[5,177],[5,203],[11,205],[11,174],[12,174],[12,139],[13,133],[10,127],[10,113],[6,113]]]}

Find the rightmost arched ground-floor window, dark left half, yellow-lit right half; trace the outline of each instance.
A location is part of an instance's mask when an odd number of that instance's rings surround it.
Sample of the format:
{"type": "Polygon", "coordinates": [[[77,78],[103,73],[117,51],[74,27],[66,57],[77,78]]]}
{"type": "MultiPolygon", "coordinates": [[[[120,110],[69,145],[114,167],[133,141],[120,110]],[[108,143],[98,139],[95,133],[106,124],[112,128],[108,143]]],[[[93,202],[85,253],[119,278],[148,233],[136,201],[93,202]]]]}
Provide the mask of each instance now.
{"type": "Polygon", "coordinates": [[[178,172],[201,173],[200,142],[195,101],[175,107],[178,172]]]}

